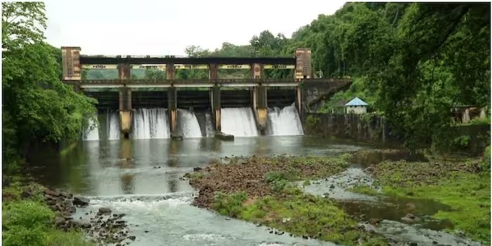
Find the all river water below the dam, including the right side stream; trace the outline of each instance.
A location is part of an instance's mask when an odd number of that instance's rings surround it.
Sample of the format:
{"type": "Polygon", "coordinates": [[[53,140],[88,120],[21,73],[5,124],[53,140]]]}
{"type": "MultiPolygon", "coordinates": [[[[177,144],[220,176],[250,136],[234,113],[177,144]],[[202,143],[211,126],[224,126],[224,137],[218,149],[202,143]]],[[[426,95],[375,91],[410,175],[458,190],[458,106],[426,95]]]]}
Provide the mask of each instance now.
{"type": "MultiPolygon", "coordinates": [[[[214,138],[185,138],[183,141],[163,139],[122,139],[81,141],[63,157],[49,151],[37,156],[39,166],[34,176],[44,185],[61,188],[91,199],[91,205],[77,209],[75,218],[99,207],[110,207],[115,213],[127,214],[129,235],[136,235],[131,245],[333,245],[330,242],[304,240],[287,233],[275,235],[267,228],[228,219],[190,203],[196,191],[188,181],[180,179],[193,167],[204,167],[220,157],[240,155],[338,155],[373,149],[351,141],[332,141],[311,136],[236,137],[234,141],[214,138]]],[[[354,165],[342,174],[312,182],[306,192],[340,201],[349,214],[383,219],[375,231],[406,245],[479,245],[465,238],[441,232],[453,228],[448,221],[425,224],[401,223],[414,205],[413,213],[432,215],[444,209],[429,200],[394,200],[372,198],[347,192],[356,183],[370,177],[362,168],[382,160],[415,159],[400,154],[371,152],[354,156],[354,165]],[[434,229],[436,231],[431,231],[434,229]]],[[[415,160],[420,160],[419,158],[415,160]]],[[[420,160],[423,161],[423,160],[420,160]]]]}

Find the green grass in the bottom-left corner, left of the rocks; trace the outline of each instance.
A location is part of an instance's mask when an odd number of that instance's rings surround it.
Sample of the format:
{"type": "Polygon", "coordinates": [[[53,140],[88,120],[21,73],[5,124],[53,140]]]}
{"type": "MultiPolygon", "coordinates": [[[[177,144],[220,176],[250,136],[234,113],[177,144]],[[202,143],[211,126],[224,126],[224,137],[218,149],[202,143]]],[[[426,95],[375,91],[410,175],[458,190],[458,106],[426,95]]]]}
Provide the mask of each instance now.
{"type": "Polygon", "coordinates": [[[3,245],[90,246],[82,233],[61,231],[55,226],[55,213],[43,200],[44,187],[20,182],[2,190],[3,245]]]}

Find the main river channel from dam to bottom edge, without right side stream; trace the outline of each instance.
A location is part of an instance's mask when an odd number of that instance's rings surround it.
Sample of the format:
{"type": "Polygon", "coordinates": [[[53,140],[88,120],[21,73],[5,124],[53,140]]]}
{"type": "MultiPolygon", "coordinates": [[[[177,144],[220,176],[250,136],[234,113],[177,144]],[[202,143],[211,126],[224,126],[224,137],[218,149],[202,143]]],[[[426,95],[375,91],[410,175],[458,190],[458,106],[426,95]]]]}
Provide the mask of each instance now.
{"type": "Polygon", "coordinates": [[[180,177],[219,157],[337,155],[361,148],[368,146],[309,136],[82,141],[63,157],[39,155],[34,173],[45,185],[91,198],[91,205],[78,209],[75,217],[99,207],[127,214],[130,234],[136,235],[131,245],[332,245],[275,235],[193,207],[195,190],[180,177]]]}

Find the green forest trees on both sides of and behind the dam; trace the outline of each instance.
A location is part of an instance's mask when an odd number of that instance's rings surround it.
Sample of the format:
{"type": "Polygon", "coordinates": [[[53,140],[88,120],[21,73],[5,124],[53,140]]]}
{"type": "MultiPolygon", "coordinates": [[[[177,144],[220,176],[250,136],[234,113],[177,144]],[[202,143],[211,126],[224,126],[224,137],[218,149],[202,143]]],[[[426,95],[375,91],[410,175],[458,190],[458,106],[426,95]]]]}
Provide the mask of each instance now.
{"type": "MultiPolygon", "coordinates": [[[[3,153],[16,167],[32,139],[57,143],[79,138],[84,115],[95,112],[96,101],[60,81],[60,49],[44,41],[44,4],[3,6],[3,153]]],[[[224,43],[214,51],[188,46],[186,54],[293,56],[299,47],[311,48],[316,77],[353,79],[347,91],[325,101],[322,112],[340,100],[363,98],[389,120],[408,148],[445,139],[453,127],[453,107],[490,109],[488,3],[347,3],[333,15],[318,15],[290,38],[265,30],[246,46],[224,43]]],[[[270,78],[292,76],[288,70],[266,72],[270,78]]],[[[83,72],[93,79],[115,75],[83,72]]],[[[207,71],[180,70],[176,76],[201,78],[207,71]]],[[[134,72],[134,77],[157,79],[165,74],[147,70],[134,72]]]]}

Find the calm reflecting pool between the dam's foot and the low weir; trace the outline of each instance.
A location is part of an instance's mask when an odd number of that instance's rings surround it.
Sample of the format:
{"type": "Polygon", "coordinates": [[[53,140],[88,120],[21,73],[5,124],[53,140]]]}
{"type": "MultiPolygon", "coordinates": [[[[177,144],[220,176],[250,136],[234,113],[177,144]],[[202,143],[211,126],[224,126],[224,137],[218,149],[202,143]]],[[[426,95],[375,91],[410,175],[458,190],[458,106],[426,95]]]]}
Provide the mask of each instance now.
{"type": "Polygon", "coordinates": [[[84,141],[67,156],[39,156],[41,183],[86,195],[190,192],[179,178],[225,156],[333,155],[363,147],[308,136],[84,141]]]}

